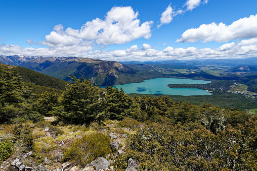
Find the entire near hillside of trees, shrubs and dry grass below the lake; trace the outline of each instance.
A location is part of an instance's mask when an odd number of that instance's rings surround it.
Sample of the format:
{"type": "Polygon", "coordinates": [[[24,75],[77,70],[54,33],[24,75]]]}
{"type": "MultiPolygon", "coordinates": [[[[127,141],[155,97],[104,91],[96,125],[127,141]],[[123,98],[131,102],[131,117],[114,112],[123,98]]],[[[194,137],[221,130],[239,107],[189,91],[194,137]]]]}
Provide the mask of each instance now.
{"type": "Polygon", "coordinates": [[[89,169],[87,164],[105,157],[113,170],[125,170],[128,160],[140,170],[257,169],[256,116],[168,96],[130,97],[122,89],[70,78],[61,95],[37,96],[17,70],[0,64],[2,168],[16,167],[4,161],[20,158],[35,170],[43,164],[50,170],[89,169]],[[44,122],[46,116],[56,121],[44,122]]]}

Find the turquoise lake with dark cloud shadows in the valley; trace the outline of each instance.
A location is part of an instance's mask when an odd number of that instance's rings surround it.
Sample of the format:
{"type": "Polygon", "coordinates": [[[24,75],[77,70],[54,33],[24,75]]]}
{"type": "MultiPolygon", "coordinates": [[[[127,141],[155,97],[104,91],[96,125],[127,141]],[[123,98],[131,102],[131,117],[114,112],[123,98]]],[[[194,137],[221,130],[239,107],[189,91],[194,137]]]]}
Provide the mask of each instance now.
{"type": "Polygon", "coordinates": [[[179,78],[155,78],[145,80],[142,83],[131,83],[115,85],[116,88],[123,88],[126,93],[138,94],[167,94],[167,95],[211,95],[205,90],[196,88],[169,88],[168,84],[207,84],[210,81],[179,79],[179,78]]]}

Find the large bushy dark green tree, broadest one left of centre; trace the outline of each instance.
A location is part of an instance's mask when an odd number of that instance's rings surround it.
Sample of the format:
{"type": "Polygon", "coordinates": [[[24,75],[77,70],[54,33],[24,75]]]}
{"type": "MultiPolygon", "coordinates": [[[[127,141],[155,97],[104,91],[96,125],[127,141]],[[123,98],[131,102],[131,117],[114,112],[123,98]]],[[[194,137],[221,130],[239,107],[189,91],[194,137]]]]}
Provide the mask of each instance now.
{"type": "Polygon", "coordinates": [[[102,121],[107,116],[104,112],[105,92],[89,79],[71,77],[74,84],[69,84],[60,99],[54,113],[60,120],[74,124],[102,121]]]}

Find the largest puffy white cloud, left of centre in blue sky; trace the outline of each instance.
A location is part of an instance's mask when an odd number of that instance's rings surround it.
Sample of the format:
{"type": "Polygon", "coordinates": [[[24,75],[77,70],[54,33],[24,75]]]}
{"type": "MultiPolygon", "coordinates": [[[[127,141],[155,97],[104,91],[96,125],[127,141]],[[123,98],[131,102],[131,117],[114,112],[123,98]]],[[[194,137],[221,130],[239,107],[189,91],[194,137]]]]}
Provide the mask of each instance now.
{"type": "Polygon", "coordinates": [[[138,16],[132,7],[113,7],[106,13],[104,20],[96,18],[88,21],[79,30],[64,30],[62,25],[56,25],[41,44],[49,47],[88,46],[94,41],[106,46],[124,44],[141,37],[148,39],[153,22],[146,21],[140,25],[138,16]]]}

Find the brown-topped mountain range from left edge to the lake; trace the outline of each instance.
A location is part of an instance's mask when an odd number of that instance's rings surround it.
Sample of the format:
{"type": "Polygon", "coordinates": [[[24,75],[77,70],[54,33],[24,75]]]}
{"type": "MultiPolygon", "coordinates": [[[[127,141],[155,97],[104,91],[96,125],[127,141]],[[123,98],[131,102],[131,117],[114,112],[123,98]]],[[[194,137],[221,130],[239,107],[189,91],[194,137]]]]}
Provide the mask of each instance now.
{"type": "Polygon", "coordinates": [[[99,59],[81,57],[49,57],[22,55],[1,56],[3,64],[13,64],[28,68],[65,81],[70,81],[67,76],[73,74],[80,78],[88,77],[98,85],[119,85],[126,83],[142,82],[143,79],[135,77],[137,72],[130,67],[115,61],[102,61],[99,59]]]}

